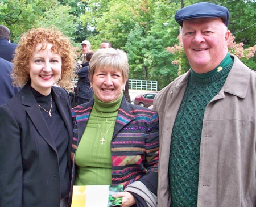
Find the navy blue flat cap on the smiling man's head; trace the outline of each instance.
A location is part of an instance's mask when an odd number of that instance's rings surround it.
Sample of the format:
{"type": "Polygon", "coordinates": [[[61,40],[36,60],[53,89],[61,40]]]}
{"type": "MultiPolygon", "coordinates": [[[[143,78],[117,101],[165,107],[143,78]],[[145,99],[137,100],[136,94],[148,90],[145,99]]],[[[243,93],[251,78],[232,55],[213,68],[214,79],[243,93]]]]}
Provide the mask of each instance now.
{"type": "Polygon", "coordinates": [[[175,20],[182,27],[183,21],[197,18],[221,18],[226,26],[229,24],[229,11],[226,7],[213,3],[200,2],[180,9],[175,14],[175,20]]]}

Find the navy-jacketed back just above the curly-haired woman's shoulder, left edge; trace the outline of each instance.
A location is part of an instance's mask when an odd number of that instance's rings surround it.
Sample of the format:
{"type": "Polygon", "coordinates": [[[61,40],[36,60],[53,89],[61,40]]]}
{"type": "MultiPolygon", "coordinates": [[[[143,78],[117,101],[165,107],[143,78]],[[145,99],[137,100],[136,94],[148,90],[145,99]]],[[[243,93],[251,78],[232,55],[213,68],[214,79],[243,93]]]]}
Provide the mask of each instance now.
{"type": "Polygon", "coordinates": [[[20,89],[13,86],[10,77],[12,70],[13,64],[0,57],[0,105],[12,98],[20,89]]]}

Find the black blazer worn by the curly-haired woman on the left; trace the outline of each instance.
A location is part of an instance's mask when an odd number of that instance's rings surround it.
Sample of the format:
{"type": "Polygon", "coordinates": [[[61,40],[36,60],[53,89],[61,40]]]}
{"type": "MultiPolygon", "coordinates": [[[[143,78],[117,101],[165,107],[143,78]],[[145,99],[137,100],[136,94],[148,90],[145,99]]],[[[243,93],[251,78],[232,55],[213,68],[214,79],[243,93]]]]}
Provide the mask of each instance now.
{"type": "MultiPolygon", "coordinates": [[[[67,91],[52,87],[72,141],[67,91]]],[[[60,176],[55,142],[28,83],[0,105],[0,206],[59,207],[60,176]]],[[[71,175],[71,163],[68,163],[71,175]]]]}

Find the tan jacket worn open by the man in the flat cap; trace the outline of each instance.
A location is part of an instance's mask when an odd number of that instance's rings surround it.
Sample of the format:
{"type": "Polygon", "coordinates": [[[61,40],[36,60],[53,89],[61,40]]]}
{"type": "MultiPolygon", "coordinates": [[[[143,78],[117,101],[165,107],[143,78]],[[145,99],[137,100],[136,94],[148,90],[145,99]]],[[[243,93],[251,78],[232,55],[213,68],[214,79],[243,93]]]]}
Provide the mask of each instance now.
{"type": "MultiPolygon", "coordinates": [[[[237,57],[203,119],[198,207],[256,206],[256,73],[237,57]]],[[[158,206],[170,207],[168,164],[172,127],[190,71],[154,100],[160,124],[158,206]]]]}

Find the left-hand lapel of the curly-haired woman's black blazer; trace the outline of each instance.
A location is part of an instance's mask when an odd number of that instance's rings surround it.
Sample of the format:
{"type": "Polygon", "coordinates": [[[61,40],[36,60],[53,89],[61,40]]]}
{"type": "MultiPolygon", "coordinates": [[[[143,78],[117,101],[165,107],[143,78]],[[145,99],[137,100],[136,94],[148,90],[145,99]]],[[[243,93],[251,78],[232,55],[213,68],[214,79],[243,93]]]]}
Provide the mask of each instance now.
{"type": "Polygon", "coordinates": [[[29,83],[27,83],[22,90],[20,91],[22,104],[27,107],[26,111],[28,116],[30,117],[32,123],[35,128],[38,130],[39,134],[43,137],[43,139],[48,143],[49,146],[57,153],[56,146],[51,136],[51,133],[48,130],[48,126],[46,120],[38,107],[38,103],[32,91],[30,90],[29,83]]]}

